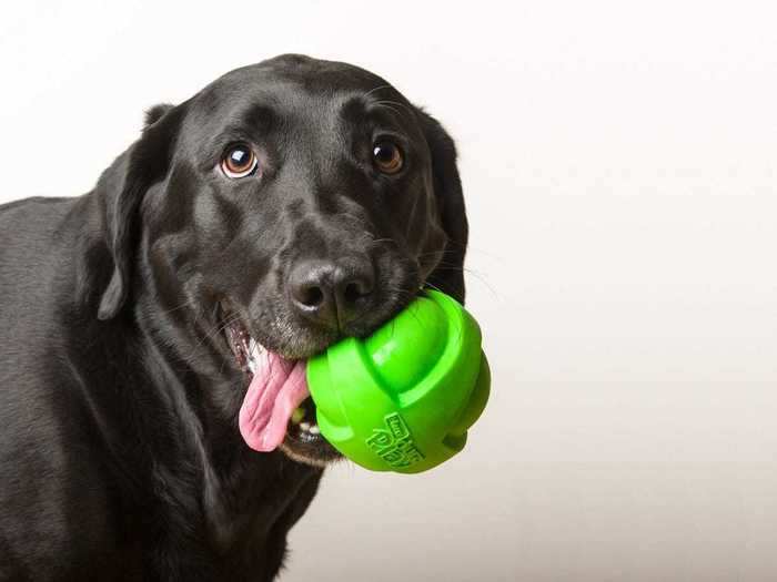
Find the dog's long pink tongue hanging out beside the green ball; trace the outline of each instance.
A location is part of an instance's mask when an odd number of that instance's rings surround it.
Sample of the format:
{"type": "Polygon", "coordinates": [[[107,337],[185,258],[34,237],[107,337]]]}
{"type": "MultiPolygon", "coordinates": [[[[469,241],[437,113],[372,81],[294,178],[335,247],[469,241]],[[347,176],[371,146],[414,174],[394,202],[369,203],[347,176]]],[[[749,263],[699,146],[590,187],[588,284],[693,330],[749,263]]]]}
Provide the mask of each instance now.
{"type": "Polygon", "coordinates": [[[260,349],[253,379],[240,409],[240,433],[258,451],[274,450],[286,435],[294,409],[310,396],[305,361],[289,361],[260,349]]]}

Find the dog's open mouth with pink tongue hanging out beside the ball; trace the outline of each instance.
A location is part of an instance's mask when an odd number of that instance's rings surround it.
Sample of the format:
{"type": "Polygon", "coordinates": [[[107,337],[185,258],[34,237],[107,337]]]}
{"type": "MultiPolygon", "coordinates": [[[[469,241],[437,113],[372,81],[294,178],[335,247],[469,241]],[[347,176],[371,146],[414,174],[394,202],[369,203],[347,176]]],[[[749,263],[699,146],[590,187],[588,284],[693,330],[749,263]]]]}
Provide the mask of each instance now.
{"type": "Polygon", "coordinates": [[[239,417],[246,445],[261,452],[281,449],[294,460],[315,466],[340,457],[316,423],[305,375],[307,361],[265,348],[234,314],[225,315],[224,320],[226,343],[248,382],[239,417]]]}

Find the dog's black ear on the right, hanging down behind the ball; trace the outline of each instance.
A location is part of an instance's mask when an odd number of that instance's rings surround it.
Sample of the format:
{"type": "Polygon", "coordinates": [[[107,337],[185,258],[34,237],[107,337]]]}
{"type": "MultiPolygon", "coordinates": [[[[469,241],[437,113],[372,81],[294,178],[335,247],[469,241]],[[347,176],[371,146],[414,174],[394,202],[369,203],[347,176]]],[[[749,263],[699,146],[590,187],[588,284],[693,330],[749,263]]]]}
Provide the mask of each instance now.
{"type": "Polygon", "coordinates": [[[462,181],[456,166],[456,146],[437,120],[418,110],[421,125],[432,153],[434,194],[443,229],[447,235],[445,252],[426,282],[460,303],[464,303],[464,255],[468,225],[464,208],[462,181]]]}

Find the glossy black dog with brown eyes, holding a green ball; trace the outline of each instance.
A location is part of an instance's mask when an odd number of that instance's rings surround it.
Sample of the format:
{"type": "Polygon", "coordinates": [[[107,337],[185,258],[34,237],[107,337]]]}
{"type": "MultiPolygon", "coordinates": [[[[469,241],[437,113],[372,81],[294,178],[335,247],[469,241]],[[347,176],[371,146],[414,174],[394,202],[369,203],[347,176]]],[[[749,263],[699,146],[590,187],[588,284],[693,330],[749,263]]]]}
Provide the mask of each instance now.
{"type": "Polygon", "coordinates": [[[299,55],[153,108],[84,196],[0,206],[0,580],[272,580],[337,457],[304,358],[463,302],[466,241],[441,125],[299,55]]]}

